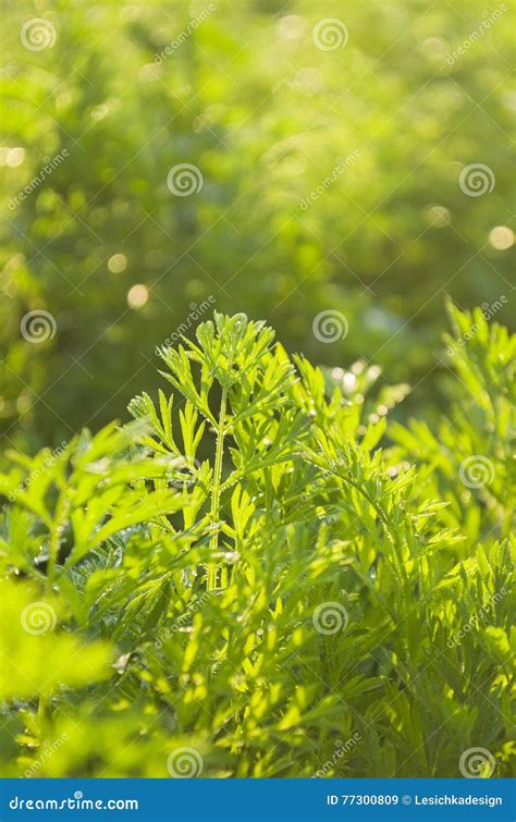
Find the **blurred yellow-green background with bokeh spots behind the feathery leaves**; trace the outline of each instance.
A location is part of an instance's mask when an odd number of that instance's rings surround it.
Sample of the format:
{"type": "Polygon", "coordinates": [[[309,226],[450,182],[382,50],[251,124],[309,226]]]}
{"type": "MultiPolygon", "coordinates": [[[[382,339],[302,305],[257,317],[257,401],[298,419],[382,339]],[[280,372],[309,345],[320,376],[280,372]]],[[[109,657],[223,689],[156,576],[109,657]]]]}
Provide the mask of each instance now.
{"type": "Polygon", "coordinates": [[[514,5],[41,0],[3,17],[5,446],[123,417],[206,300],[316,363],[378,363],[417,387],[416,413],[446,390],[446,293],[504,295],[511,324],[514,5]],[[182,163],[188,196],[168,185],[182,163]],[[36,344],[21,323],[41,309],[56,333],[36,344]],[[312,331],[328,309],[349,329],[333,344],[312,331]]]}

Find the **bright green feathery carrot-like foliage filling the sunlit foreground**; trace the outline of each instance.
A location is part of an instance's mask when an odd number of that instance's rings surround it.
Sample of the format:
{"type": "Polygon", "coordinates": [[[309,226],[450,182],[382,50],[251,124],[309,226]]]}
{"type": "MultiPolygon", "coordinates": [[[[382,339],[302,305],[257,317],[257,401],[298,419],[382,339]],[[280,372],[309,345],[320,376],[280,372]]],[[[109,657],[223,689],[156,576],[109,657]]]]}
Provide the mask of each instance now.
{"type": "Polygon", "coordinates": [[[216,314],[133,422],[9,455],[3,775],[511,773],[516,344],[451,310],[432,425],[216,314]]]}

